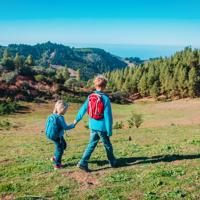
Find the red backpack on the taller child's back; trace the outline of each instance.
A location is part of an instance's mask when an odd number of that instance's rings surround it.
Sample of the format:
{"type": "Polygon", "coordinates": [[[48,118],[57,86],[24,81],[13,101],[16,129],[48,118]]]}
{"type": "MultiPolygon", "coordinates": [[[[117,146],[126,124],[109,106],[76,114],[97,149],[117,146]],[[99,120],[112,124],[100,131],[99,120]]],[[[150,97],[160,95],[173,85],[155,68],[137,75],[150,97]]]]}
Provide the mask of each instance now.
{"type": "Polygon", "coordinates": [[[104,104],[100,94],[93,93],[88,97],[88,115],[96,120],[103,119],[104,104]]]}

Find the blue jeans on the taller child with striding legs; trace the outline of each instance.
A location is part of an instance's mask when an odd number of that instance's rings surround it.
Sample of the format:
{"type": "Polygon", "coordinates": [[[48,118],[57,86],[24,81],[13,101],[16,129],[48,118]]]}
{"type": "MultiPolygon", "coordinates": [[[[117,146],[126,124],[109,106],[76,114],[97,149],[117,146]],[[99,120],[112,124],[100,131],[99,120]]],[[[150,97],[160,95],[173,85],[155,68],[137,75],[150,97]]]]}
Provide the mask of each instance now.
{"type": "Polygon", "coordinates": [[[114,165],[114,163],[116,162],[116,159],[113,154],[113,147],[110,142],[110,138],[107,136],[106,132],[95,131],[95,130],[91,130],[90,132],[90,141],[79,162],[80,165],[86,166],[86,167],[88,166],[88,160],[90,159],[90,156],[92,152],[94,151],[95,147],[97,146],[97,143],[99,142],[100,138],[104,144],[109,163],[111,165],[114,165]]]}

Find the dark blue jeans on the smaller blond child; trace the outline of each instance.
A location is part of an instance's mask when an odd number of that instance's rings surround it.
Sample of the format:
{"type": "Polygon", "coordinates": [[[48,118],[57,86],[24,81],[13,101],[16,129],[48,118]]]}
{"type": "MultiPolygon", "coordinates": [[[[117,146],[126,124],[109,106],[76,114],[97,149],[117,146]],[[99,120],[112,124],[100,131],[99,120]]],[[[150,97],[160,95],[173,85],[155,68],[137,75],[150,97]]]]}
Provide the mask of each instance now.
{"type": "Polygon", "coordinates": [[[55,164],[60,165],[61,164],[61,159],[62,155],[64,153],[64,150],[67,147],[67,143],[64,139],[64,137],[58,138],[56,140],[52,140],[55,144],[55,152],[54,152],[54,157],[55,157],[55,164]]]}

